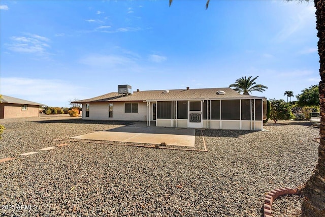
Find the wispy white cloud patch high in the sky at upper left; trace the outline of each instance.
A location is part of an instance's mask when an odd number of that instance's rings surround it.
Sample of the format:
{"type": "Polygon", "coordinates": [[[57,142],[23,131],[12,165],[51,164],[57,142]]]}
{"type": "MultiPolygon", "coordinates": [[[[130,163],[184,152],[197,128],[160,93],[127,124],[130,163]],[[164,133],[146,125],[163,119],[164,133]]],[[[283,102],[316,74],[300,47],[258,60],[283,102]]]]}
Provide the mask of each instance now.
{"type": "Polygon", "coordinates": [[[11,43],[5,44],[5,46],[14,52],[18,53],[34,53],[38,55],[47,55],[47,48],[50,47],[50,39],[35,34],[26,33],[29,37],[25,36],[13,36],[11,37],[11,43]]]}

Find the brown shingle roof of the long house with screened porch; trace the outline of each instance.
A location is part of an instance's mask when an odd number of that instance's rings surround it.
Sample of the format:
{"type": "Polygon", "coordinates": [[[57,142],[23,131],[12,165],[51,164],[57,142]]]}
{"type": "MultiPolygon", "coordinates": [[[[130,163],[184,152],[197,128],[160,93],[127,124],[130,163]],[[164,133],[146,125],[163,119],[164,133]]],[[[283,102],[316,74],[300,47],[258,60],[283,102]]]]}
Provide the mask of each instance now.
{"type": "Polygon", "coordinates": [[[203,88],[203,89],[172,89],[168,93],[165,90],[145,90],[133,92],[132,95],[121,96],[117,92],[110,92],[102,96],[78,100],[74,103],[87,102],[124,102],[124,101],[165,101],[165,100],[207,100],[207,99],[264,99],[265,97],[254,97],[241,95],[232,88],[203,88]],[[224,95],[217,94],[218,90],[225,92],[224,95]]]}

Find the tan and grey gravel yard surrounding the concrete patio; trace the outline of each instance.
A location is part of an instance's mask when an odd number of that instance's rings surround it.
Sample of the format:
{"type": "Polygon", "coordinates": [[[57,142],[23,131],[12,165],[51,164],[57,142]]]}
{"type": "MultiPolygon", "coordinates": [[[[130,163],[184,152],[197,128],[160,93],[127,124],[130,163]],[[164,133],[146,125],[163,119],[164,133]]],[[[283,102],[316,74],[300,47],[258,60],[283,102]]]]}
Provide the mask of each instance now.
{"type": "MultiPolygon", "coordinates": [[[[53,140],[126,122],[37,117],[0,124],[0,159],[16,158],[0,163],[2,216],[262,216],[265,194],[304,183],[318,155],[312,139],[319,129],[308,122],[268,123],[269,132],[203,130],[208,152],[56,147],[63,142],[53,140]],[[49,146],[55,149],[39,150],[49,146]],[[19,156],[30,151],[38,153],[19,156]]],[[[196,135],[202,147],[201,130],[196,135]]],[[[280,197],[274,216],[299,216],[301,201],[280,197]]]]}

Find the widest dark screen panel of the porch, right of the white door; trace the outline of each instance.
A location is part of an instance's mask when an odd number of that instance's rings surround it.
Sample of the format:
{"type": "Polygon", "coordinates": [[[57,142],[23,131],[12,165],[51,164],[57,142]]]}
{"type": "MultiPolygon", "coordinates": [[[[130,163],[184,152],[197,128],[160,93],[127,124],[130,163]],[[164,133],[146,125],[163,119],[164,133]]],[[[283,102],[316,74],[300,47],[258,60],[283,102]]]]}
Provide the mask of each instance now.
{"type": "Polygon", "coordinates": [[[221,102],[221,119],[222,120],[239,120],[240,119],[240,101],[239,100],[222,100],[221,102]]]}

